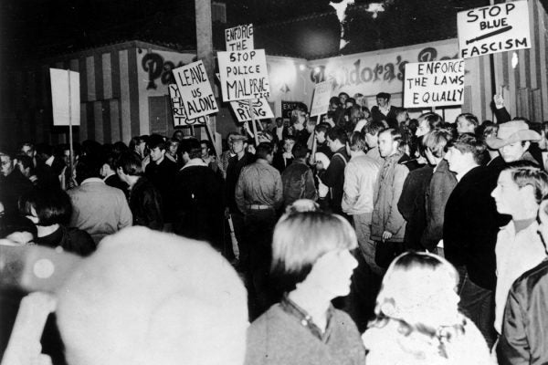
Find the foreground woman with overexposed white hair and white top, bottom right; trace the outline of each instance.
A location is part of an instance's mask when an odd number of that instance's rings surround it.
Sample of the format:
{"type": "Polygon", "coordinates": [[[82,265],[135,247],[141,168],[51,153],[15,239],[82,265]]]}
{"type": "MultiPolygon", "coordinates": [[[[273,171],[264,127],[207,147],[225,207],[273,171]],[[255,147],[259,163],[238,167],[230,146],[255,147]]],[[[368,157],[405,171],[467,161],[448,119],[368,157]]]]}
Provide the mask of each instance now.
{"type": "Polygon", "coordinates": [[[457,270],[437,255],[396,257],[362,337],[367,364],[490,364],[479,329],[458,312],[457,284],[457,270]]]}

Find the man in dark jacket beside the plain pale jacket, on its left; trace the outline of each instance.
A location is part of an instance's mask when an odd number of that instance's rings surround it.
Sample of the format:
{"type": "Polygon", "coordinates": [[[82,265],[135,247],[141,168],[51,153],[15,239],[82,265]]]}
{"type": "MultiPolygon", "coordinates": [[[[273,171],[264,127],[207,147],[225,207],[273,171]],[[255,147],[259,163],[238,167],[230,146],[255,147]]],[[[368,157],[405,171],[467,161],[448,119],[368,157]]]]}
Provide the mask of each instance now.
{"type": "MultiPolygon", "coordinates": [[[[346,152],[348,136],[341,127],[327,132],[327,143],[333,155],[329,167],[320,174],[321,183],[329,187],[330,208],[334,214],[342,214],[342,194],[344,191],[344,168],[350,160],[346,152]]],[[[319,166],[321,168],[321,166],[319,166]]]]}

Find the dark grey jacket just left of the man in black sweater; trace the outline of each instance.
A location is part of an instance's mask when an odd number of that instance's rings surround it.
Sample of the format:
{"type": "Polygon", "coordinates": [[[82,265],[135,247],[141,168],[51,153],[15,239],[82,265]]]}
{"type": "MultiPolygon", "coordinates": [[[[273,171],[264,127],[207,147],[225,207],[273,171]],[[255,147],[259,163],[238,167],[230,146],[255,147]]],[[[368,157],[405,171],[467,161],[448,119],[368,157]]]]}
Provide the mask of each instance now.
{"type": "Polygon", "coordinates": [[[449,195],[457,185],[454,172],[449,171],[446,160],[438,163],[425,192],[427,225],[420,238],[420,244],[433,252],[443,238],[443,220],[449,195]]]}

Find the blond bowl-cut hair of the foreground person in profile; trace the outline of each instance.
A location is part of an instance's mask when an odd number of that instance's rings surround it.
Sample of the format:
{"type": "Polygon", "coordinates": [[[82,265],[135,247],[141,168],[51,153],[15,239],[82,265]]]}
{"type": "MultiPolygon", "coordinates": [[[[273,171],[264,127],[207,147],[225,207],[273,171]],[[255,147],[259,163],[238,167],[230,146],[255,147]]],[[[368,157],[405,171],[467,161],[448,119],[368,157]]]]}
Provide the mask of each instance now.
{"type": "Polygon", "coordinates": [[[328,252],[358,245],[352,225],[342,216],[324,212],[284,214],[272,239],[272,276],[282,292],[289,292],[328,252]]]}

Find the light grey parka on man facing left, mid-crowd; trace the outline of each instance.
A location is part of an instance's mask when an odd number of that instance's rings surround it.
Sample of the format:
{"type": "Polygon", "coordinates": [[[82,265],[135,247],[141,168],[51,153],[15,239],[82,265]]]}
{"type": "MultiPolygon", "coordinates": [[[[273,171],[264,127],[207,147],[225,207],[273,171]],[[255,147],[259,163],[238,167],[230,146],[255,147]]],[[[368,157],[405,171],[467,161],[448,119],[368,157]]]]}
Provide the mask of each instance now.
{"type": "Polygon", "coordinates": [[[374,188],[374,209],[371,220],[371,239],[381,241],[383,232],[392,234],[390,242],[404,242],[406,220],[397,209],[409,169],[398,163],[403,156],[395,153],[385,158],[374,188]]]}

